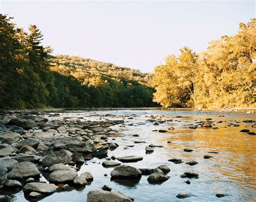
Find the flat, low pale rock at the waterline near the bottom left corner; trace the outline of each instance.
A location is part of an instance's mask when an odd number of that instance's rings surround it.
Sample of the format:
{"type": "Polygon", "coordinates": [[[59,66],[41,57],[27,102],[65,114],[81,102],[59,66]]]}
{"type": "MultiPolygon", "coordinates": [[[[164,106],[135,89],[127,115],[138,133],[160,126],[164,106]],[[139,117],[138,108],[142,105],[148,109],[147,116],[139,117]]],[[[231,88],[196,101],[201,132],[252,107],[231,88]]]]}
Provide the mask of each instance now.
{"type": "Polygon", "coordinates": [[[44,194],[50,194],[57,191],[58,186],[55,184],[47,183],[28,183],[24,186],[25,192],[39,192],[44,194]]]}

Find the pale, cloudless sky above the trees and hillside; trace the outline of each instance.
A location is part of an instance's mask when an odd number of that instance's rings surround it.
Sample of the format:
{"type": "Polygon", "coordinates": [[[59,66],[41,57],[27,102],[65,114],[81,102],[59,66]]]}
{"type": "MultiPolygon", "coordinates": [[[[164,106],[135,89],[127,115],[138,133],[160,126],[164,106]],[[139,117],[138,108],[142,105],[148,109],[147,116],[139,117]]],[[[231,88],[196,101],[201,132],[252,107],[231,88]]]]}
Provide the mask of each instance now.
{"type": "Polygon", "coordinates": [[[52,54],[152,72],[181,47],[206,50],[255,18],[255,1],[3,1],[18,27],[35,24],[52,54]]]}

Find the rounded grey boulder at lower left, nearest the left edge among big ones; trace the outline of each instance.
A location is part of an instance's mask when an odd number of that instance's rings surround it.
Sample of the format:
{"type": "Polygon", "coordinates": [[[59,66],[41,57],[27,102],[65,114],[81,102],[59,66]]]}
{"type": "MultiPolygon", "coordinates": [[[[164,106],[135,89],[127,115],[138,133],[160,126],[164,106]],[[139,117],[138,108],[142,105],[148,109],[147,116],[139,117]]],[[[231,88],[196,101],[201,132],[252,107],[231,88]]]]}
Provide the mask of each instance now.
{"type": "Polygon", "coordinates": [[[9,179],[26,179],[29,177],[38,178],[40,175],[37,167],[31,162],[18,163],[14,169],[8,173],[9,179]]]}

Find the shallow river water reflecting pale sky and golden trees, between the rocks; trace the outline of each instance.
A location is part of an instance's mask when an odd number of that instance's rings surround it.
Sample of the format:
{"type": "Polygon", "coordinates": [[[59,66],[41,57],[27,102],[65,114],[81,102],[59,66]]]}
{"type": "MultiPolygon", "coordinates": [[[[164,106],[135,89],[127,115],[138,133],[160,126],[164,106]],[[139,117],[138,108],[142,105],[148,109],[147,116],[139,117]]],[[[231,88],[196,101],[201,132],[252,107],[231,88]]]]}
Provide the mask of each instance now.
{"type": "MultiPolygon", "coordinates": [[[[136,168],[156,168],[161,164],[167,164],[171,169],[167,175],[170,179],[163,184],[152,185],[147,182],[148,176],[142,176],[138,183],[115,182],[110,179],[113,168],[103,168],[101,163],[104,159],[93,158],[87,161],[80,171],[91,172],[94,177],[90,185],[84,190],[72,190],[69,192],[54,193],[41,201],[86,201],[90,190],[101,189],[106,184],[112,187],[112,191],[121,191],[135,199],[135,201],[256,201],[256,136],[239,132],[248,128],[256,131],[251,126],[253,123],[242,123],[245,119],[255,119],[255,114],[246,113],[215,113],[215,112],[192,112],[192,111],[163,111],[163,110],[117,110],[117,111],[77,111],[60,114],[64,116],[84,117],[86,120],[102,119],[121,120],[122,117],[105,117],[105,114],[117,116],[134,116],[134,119],[125,119],[125,127],[120,124],[112,128],[119,130],[120,135],[109,136],[109,142],[116,142],[119,147],[109,150],[109,157],[136,155],[142,156],[143,161],[126,163],[136,168]],[[219,114],[225,117],[218,117],[219,114]],[[90,116],[93,115],[93,116],[90,116]],[[161,120],[170,120],[159,126],[146,121],[150,115],[164,115],[161,120]],[[175,118],[173,116],[186,116],[175,118]],[[224,121],[216,123],[218,129],[189,129],[187,124],[196,124],[197,121],[224,121]],[[226,121],[226,122],[225,122],[226,121]],[[239,127],[227,127],[228,123],[240,122],[239,127]],[[133,126],[127,126],[133,123],[133,126]],[[168,133],[159,133],[159,129],[167,129],[173,126],[175,129],[168,133]],[[132,135],[138,134],[139,137],[132,135]],[[116,140],[112,141],[112,138],[116,140]],[[146,143],[134,144],[134,141],[146,143]],[[167,143],[171,141],[171,143],[167,143]],[[145,147],[149,144],[163,145],[163,148],[154,148],[152,154],[145,154],[145,147]],[[126,145],[134,145],[124,149],[126,145]],[[184,152],[183,149],[193,149],[192,152],[184,152]],[[216,151],[218,154],[210,154],[208,151],[216,151]],[[204,159],[204,155],[212,155],[213,158],[204,159]],[[174,164],[168,159],[180,158],[184,163],[174,164]],[[197,161],[198,164],[190,166],[185,164],[189,161],[197,161]],[[184,183],[187,178],[180,178],[184,172],[196,172],[198,179],[189,179],[191,184],[184,183]],[[104,174],[107,174],[105,177],[104,174]],[[178,199],[178,193],[189,193],[191,197],[178,199]],[[217,198],[215,194],[223,193],[227,196],[217,198]]],[[[50,119],[56,119],[51,117],[50,119]]],[[[43,180],[43,178],[42,178],[43,180]]],[[[26,201],[23,191],[15,195],[16,201],[26,201]]]]}

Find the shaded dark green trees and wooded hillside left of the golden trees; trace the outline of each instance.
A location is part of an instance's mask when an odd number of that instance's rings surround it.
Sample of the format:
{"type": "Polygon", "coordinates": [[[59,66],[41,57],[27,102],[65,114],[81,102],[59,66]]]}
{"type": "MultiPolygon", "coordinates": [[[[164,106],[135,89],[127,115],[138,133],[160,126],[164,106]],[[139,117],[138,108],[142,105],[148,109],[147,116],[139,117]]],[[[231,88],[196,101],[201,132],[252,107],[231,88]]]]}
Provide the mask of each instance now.
{"type": "Polygon", "coordinates": [[[150,74],[50,55],[35,25],[26,33],[0,14],[0,108],[151,107],[150,74]]]}

